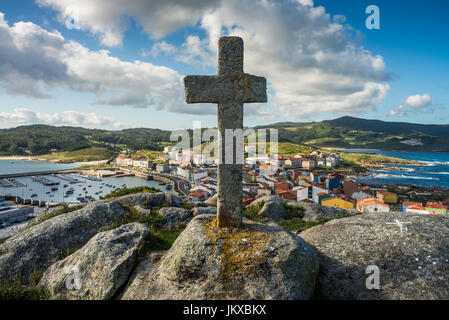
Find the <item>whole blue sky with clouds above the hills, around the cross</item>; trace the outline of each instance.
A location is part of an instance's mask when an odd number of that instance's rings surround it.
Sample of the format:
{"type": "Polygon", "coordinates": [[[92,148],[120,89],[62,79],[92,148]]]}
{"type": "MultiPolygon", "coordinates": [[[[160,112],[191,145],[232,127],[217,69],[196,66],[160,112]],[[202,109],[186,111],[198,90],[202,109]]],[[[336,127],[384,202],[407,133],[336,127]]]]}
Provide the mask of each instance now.
{"type": "Polygon", "coordinates": [[[215,74],[227,34],[244,38],[246,71],[269,82],[268,104],[245,106],[246,125],[341,115],[449,123],[447,1],[118,3],[0,4],[0,127],[215,126],[215,106],[185,104],[182,77],[215,74]],[[368,5],[380,9],[379,30],[365,27],[368,5]]]}

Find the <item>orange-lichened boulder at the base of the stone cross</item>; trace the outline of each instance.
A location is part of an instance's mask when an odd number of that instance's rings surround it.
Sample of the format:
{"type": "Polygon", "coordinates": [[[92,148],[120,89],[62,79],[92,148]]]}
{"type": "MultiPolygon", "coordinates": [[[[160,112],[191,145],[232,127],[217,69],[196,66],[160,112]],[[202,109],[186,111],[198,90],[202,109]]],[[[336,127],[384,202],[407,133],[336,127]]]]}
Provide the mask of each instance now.
{"type": "Polygon", "coordinates": [[[123,299],[308,299],[316,252],[276,224],[217,228],[195,217],[167,254],[141,265],[123,299]]]}

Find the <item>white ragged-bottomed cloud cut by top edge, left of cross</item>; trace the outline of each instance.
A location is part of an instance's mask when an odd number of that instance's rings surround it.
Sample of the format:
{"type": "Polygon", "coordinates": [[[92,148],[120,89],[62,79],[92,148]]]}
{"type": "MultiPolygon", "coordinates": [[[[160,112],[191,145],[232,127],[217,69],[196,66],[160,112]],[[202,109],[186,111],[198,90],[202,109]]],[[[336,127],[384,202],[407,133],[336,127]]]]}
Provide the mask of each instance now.
{"type": "Polygon", "coordinates": [[[82,30],[99,36],[107,46],[123,42],[129,18],[137,21],[155,38],[161,38],[178,28],[195,24],[201,15],[214,8],[219,0],[36,0],[59,12],[64,22],[67,13],[76,8],[82,30]]]}

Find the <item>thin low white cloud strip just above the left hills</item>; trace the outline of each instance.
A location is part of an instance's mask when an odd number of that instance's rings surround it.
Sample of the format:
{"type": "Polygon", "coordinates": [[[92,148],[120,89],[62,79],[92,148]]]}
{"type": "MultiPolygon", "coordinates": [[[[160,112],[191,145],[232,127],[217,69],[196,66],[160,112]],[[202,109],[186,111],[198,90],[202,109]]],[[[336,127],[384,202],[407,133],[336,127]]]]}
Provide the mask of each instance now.
{"type": "Polygon", "coordinates": [[[60,113],[47,114],[34,112],[24,108],[17,108],[12,112],[1,112],[0,123],[4,123],[7,126],[40,123],[48,125],[68,125],[109,129],[121,129],[126,126],[124,123],[115,121],[110,117],[98,115],[96,113],[63,111],[60,113]]]}

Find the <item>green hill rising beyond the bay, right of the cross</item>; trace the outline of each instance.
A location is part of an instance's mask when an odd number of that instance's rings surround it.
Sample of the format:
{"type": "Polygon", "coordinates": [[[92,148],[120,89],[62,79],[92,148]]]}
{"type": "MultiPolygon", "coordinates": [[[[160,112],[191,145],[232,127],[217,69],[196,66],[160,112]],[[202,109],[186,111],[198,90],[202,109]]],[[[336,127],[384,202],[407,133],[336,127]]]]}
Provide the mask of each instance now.
{"type": "Polygon", "coordinates": [[[319,147],[449,152],[449,125],[341,117],[321,122],[279,122],[279,141],[319,147]]]}

